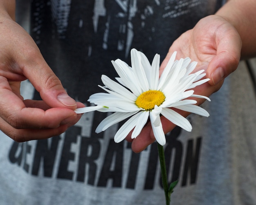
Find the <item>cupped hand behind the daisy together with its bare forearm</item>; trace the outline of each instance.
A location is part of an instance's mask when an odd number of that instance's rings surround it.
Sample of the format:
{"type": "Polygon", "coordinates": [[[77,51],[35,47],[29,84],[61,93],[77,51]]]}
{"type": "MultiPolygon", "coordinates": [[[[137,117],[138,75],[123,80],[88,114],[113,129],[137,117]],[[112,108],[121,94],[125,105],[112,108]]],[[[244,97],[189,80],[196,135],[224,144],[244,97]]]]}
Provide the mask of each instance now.
{"type": "MultiPolygon", "coordinates": [[[[173,51],[177,59],[189,56],[198,62],[198,69],[206,70],[209,83],[194,88],[195,94],[210,96],[222,86],[225,77],[236,70],[240,58],[256,55],[256,2],[254,0],[229,0],[217,13],[203,18],[189,31],[183,33],[171,45],[160,69],[163,70],[173,51]],[[243,44],[243,46],[242,46],[243,44]]],[[[198,105],[203,99],[196,99],[198,105]]],[[[184,117],[188,112],[177,110],[184,117]]],[[[175,125],[162,117],[164,132],[175,125]]],[[[141,152],[155,141],[150,123],[136,139],[130,134],[126,139],[132,142],[132,150],[141,152]]]]}

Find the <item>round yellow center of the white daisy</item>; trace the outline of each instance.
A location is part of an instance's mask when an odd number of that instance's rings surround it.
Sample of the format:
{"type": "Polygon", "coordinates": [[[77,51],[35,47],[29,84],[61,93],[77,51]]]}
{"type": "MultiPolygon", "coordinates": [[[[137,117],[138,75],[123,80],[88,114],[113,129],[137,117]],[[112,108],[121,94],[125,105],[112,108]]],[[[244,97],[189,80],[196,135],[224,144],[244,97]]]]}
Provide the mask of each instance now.
{"type": "Polygon", "coordinates": [[[165,100],[164,93],[159,90],[148,90],[144,93],[141,93],[135,104],[139,108],[143,108],[145,110],[153,110],[155,105],[160,106],[165,100]]]}

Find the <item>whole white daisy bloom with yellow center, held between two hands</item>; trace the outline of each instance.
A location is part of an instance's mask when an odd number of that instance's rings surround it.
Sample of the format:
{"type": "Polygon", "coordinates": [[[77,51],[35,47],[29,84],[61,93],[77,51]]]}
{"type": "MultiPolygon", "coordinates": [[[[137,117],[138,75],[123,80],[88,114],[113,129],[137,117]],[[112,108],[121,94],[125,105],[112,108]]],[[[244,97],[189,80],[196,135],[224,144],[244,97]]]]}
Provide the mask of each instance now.
{"type": "Polygon", "coordinates": [[[209,113],[206,110],[195,105],[197,101],[186,98],[198,97],[210,101],[208,97],[194,95],[194,91],[191,90],[209,79],[202,79],[206,75],[203,73],[204,70],[192,73],[197,62],[191,63],[189,57],[180,60],[175,60],[175,57],[176,52],[159,78],[160,56],[156,54],[150,65],[143,53],[132,49],[131,67],[119,59],[112,61],[119,75],[116,78],[118,82],[102,75],[101,80],[105,86],[99,87],[107,93],[91,95],[88,101],[96,106],[78,108],[75,112],[114,112],[101,121],[96,129],[97,133],[130,117],[115,134],[114,139],[117,143],[124,140],[133,128],[132,139],[136,138],[149,117],[155,139],[160,145],[164,145],[166,139],[160,114],[184,130],[191,131],[189,121],[170,108],[208,117],[209,113]]]}

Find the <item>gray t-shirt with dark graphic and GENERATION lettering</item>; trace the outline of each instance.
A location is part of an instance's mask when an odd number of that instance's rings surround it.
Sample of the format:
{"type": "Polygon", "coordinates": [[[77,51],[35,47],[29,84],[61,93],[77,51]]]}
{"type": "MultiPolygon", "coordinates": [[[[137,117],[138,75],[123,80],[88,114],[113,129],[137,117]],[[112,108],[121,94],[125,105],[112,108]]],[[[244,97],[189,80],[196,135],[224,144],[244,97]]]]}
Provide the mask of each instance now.
{"type": "MultiPolygon", "coordinates": [[[[153,59],[200,18],[214,0],[34,0],[31,35],[74,99],[88,97],[100,76],[117,74],[110,60],[129,63],[137,48],[153,59]]],[[[202,105],[210,117],[190,115],[192,132],[166,134],[169,182],[179,179],[175,205],[256,204],[256,97],[241,62],[222,88],[202,105]]],[[[29,82],[22,95],[39,99],[29,82]]],[[[164,205],[155,143],[135,154],[115,143],[115,125],[96,134],[107,113],[90,112],[64,134],[17,143],[0,137],[1,205],[164,205]]]]}

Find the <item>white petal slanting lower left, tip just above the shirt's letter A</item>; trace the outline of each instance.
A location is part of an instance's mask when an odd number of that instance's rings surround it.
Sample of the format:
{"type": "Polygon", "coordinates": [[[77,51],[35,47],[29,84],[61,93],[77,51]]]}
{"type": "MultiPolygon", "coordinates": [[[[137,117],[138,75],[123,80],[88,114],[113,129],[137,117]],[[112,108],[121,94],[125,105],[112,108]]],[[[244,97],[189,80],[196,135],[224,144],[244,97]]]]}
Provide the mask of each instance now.
{"type": "Polygon", "coordinates": [[[140,115],[140,113],[133,115],[117,131],[117,133],[115,134],[115,137],[114,137],[114,140],[116,143],[119,143],[122,140],[124,140],[126,138],[126,136],[129,134],[129,132],[137,125],[138,115],[140,115]]]}

